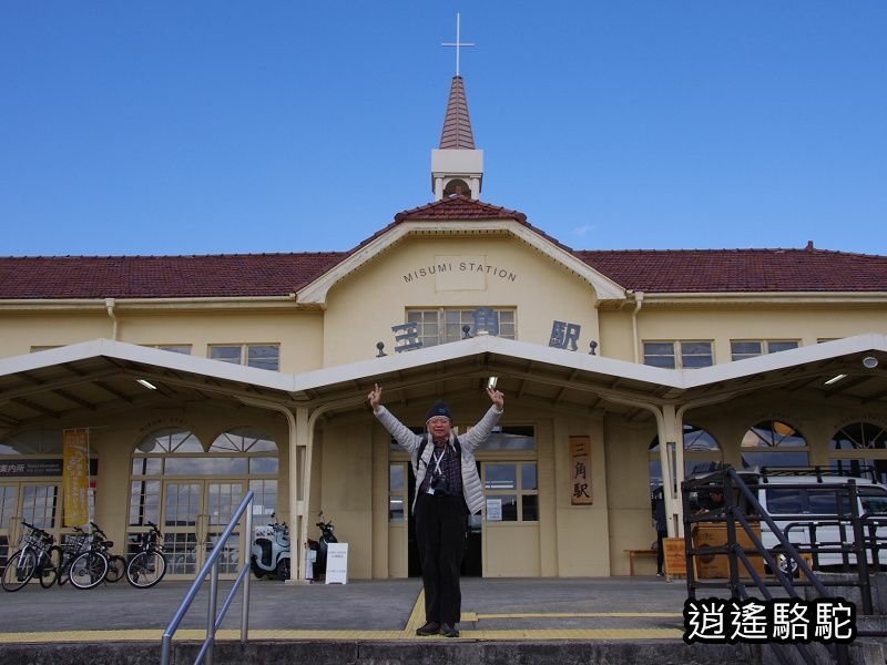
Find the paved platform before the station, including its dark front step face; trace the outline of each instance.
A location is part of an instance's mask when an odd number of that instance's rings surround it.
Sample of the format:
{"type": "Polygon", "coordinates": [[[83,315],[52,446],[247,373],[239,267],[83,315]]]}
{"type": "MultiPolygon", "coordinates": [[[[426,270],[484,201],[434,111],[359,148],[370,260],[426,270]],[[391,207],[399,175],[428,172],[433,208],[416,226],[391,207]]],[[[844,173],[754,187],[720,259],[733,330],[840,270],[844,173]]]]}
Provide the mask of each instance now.
{"type": "MultiPolygon", "coordinates": [[[[157,663],[163,630],[190,584],[80,591],[31,584],[0,593],[0,663],[157,663]]],[[[346,585],[252,581],[249,642],[241,600],[218,632],[215,663],[761,663],[753,645],[683,643],[682,581],[659,577],[466,579],[461,637],[417,637],[420,580],[346,585]]],[[[230,583],[222,583],[221,600],[230,583]]],[[[175,636],[191,663],[206,626],[201,592],[175,636]]]]}

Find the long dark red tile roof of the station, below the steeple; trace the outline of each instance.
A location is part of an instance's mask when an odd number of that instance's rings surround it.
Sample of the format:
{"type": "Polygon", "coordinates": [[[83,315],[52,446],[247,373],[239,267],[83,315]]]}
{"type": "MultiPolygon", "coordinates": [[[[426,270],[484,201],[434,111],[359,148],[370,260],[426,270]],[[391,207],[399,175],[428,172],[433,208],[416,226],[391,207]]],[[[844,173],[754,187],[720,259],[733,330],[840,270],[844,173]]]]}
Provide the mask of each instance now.
{"type": "Polygon", "coordinates": [[[286,296],[404,222],[514,219],[616,284],[648,293],[887,293],[887,256],[805,249],[573,250],[523,213],[457,196],[399,213],[349,252],[0,257],[0,299],[286,296]]]}

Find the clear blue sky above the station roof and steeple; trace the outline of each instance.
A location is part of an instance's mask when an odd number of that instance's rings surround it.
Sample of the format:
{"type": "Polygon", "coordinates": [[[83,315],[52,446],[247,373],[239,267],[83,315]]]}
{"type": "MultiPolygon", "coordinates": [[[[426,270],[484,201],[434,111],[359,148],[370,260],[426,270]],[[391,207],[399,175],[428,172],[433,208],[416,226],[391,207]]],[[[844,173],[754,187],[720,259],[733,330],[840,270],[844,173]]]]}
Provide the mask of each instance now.
{"type": "Polygon", "coordinates": [[[432,200],[579,249],[887,254],[883,0],[0,0],[0,255],[345,250],[432,200]]]}

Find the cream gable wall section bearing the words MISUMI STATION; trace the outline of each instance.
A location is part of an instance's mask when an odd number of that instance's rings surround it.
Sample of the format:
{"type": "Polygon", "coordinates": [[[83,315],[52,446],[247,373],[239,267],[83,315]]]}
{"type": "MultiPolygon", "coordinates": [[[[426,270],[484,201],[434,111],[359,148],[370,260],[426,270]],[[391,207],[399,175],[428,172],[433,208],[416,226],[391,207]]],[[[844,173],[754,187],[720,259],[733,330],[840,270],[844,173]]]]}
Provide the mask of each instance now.
{"type": "Polygon", "coordinates": [[[377,341],[392,352],[391,326],[405,323],[410,307],[517,307],[519,340],[548,346],[557,319],[582,326],[580,350],[588,351],[588,342],[598,338],[595,301],[588,283],[516,239],[407,238],[329,291],[325,365],[373,358],[377,341]],[[507,275],[483,274],[482,289],[459,288],[467,257],[482,257],[507,275]],[[448,269],[416,276],[438,265],[448,269]]]}

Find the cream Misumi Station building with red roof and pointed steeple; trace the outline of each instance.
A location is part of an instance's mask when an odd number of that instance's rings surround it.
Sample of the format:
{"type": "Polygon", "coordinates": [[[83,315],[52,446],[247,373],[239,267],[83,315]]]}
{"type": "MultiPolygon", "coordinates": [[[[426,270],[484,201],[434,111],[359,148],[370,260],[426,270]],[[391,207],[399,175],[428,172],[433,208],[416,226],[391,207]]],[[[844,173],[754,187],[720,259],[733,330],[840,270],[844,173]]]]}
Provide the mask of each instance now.
{"type": "Polygon", "coordinates": [[[171,577],[249,489],[297,561],[323,511],[351,579],[416,575],[409,463],[365,401],[376,382],[417,429],[445,399],[466,431],[492,377],[506,395],[468,575],[628,574],[655,540],[651,489],[680,534],[679,481],[722,462],[884,480],[887,256],[573,249],[482,183],[456,76],[434,201],[368,221],[357,247],[0,258],[0,557],[22,519],[70,532],[62,441],[85,430],[92,520],[118,543],[157,523],[171,577]]]}

